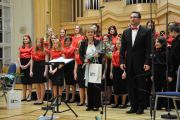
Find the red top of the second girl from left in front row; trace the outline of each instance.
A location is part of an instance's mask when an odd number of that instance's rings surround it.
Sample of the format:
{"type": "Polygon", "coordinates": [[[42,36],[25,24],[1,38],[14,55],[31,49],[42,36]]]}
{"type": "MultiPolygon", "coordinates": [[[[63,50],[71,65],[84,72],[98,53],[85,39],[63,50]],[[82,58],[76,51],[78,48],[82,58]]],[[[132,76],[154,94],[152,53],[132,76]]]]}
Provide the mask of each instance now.
{"type": "Polygon", "coordinates": [[[42,60],[45,60],[45,56],[46,56],[46,53],[42,50],[33,50],[32,52],[32,59],[34,61],[42,61],[42,60]]]}

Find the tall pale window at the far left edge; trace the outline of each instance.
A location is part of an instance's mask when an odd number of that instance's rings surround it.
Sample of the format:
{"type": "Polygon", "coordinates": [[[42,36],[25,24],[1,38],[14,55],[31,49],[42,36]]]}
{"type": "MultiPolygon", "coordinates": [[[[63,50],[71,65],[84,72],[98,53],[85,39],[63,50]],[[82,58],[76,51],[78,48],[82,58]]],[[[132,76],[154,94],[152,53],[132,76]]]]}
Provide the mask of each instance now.
{"type": "Polygon", "coordinates": [[[0,66],[11,63],[10,0],[0,0],[0,66]]]}

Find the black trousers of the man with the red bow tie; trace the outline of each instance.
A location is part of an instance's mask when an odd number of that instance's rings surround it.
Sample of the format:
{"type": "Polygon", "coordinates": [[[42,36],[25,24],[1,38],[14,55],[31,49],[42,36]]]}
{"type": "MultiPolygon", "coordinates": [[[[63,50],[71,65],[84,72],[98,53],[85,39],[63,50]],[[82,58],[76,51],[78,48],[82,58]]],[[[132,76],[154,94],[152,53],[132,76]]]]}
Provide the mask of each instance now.
{"type": "Polygon", "coordinates": [[[146,76],[144,71],[132,69],[127,72],[128,95],[131,107],[144,109],[146,107],[146,76]]]}

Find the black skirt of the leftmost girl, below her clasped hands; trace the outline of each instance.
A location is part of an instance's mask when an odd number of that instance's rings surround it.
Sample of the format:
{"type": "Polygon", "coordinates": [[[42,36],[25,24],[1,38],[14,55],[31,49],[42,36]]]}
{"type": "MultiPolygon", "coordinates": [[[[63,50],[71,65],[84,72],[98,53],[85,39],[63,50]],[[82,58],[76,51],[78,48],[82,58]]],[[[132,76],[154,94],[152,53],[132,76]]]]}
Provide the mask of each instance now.
{"type": "MultiPolygon", "coordinates": [[[[30,58],[21,58],[20,61],[21,65],[26,65],[30,61],[30,58]]],[[[20,68],[20,73],[22,74],[21,83],[25,85],[31,85],[32,78],[30,77],[30,66],[24,70],[20,68]]]]}

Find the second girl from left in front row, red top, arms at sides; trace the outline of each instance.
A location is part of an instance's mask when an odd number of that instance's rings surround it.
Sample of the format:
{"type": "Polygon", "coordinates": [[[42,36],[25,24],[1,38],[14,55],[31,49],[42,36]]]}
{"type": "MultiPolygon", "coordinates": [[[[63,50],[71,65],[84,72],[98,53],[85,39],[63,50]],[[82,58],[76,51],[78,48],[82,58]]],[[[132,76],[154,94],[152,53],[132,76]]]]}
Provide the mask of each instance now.
{"type": "Polygon", "coordinates": [[[45,82],[48,71],[45,62],[48,61],[48,54],[44,49],[44,38],[37,39],[36,46],[32,52],[32,60],[30,66],[30,76],[33,78],[33,83],[36,85],[37,101],[35,105],[43,104],[45,94],[45,82]]]}

